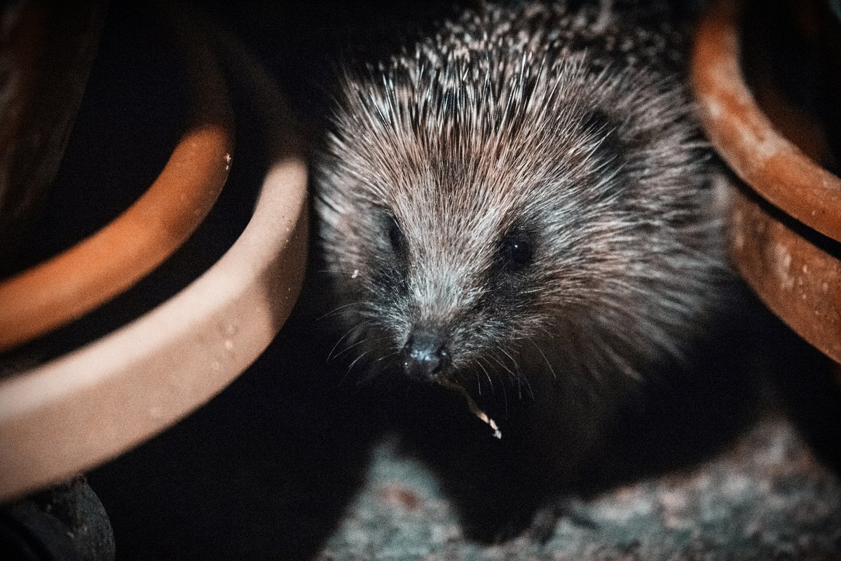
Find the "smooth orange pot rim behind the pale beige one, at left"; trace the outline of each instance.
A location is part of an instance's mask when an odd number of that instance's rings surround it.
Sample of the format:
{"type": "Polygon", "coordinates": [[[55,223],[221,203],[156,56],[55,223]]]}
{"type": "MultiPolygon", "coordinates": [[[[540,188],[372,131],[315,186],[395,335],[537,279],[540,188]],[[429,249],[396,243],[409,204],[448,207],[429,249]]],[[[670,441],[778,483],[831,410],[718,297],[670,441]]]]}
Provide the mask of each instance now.
{"type": "MultiPolygon", "coordinates": [[[[174,18],[171,18],[174,19],[174,18]]],[[[114,221],[0,282],[0,351],[93,311],[167,260],[207,217],[230,170],[232,109],[219,63],[188,25],[173,25],[188,67],[188,126],[147,191],[114,221]]]]}

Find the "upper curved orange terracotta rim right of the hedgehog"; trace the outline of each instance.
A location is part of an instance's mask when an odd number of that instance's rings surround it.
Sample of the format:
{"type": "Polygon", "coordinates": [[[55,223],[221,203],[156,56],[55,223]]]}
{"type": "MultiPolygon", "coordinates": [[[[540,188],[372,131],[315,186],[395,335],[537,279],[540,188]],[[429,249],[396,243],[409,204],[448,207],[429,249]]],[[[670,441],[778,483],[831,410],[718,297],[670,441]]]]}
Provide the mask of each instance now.
{"type": "Polygon", "coordinates": [[[690,77],[701,122],[731,169],[764,199],[808,227],[841,240],[841,179],[779,134],[740,66],[741,3],[714,3],[696,32],[690,77]]]}

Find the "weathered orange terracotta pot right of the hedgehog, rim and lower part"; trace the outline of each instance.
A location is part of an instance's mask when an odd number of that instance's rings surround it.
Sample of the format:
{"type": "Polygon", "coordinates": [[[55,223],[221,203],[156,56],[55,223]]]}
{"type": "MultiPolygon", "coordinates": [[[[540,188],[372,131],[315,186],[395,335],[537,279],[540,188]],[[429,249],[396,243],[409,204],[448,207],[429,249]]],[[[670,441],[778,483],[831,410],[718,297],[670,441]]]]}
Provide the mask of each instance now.
{"type": "Polygon", "coordinates": [[[841,179],[759,107],[741,66],[740,9],[706,13],[692,60],[706,133],[741,180],[728,189],[733,263],[772,312],[841,363],[841,179]]]}

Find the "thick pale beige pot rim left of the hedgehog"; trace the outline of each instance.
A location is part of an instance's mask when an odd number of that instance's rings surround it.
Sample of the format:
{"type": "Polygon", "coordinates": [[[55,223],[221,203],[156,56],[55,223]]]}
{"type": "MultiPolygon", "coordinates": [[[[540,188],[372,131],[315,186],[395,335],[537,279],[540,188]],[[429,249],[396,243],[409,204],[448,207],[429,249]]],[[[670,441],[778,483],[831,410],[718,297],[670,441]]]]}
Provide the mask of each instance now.
{"type": "Polygon", "coordinates": [[[286,321],[304,279],[307,167],[278,118],[280,94],[238,74],[260,94],[266,136],[279,139],[251,220],[220,260],[151,312],[0,380],[0,501],[160,433],[246,370],[286,321]]]}

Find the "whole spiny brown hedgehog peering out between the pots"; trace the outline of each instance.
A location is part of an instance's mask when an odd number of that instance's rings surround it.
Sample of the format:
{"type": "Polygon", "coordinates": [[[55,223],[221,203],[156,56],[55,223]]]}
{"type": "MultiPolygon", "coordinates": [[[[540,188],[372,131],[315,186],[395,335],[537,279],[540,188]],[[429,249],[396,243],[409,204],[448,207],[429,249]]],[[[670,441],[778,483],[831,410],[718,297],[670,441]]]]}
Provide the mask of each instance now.
{"type": "Polygon", "coordinates": [[[342,67],[315,249],[357,369],[479,416],[526,388],[572,476],[682,367],[730,276],[687,35],[659,3],[487,3],[342,67]]]}

